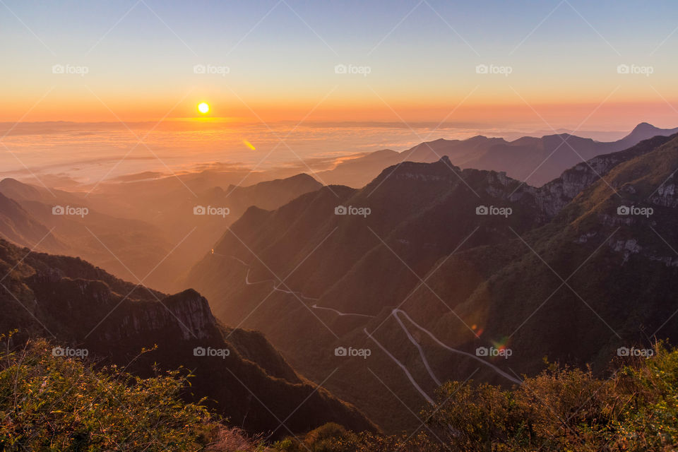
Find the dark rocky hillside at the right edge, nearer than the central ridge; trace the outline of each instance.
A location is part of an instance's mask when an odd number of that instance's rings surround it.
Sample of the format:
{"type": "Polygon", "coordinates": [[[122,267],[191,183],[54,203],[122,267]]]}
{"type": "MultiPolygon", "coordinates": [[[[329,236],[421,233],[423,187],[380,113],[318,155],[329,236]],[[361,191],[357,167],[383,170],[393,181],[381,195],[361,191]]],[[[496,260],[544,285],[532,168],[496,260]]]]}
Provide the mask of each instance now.
{"type": "MultiPolygon", "coordinates": [[[[516,371],[535,371],[543,356],[600,370],[617,347],[677,338],[678,138],[629,157],[549,225],[460,254],[432,275],[430,284],[456,300],[460,318],[511,347],[516,371]],[[450,283],[468,268],[481,272],[489,259],[498,267],[489,277],[461,293],[450,283]]],[[[420,295],[408,304],[425,311],[435,300],[420,295]]],[[[476,338],[451,328],[457,316],[439,309],[437,317],[434,331],[446,343],[472,347],[476,338]]]]}

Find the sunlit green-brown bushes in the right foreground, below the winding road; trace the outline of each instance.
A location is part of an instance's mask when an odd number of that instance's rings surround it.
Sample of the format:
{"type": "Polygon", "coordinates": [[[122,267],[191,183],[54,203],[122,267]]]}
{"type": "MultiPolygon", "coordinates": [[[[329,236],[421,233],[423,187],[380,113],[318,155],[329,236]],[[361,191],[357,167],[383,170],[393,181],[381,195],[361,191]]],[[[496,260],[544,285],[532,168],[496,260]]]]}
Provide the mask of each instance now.
{"type": "Polygon", "coordinates": [[[448,382],[438,391],[437,405],[421,414],[425,422],[412,436],[326,426],[303,441],[288,439],[283,450],[676,451],[678,350],[657,345],[655,356],[626,362],[609,379],[552,365],[511,390],[448,382]]]}

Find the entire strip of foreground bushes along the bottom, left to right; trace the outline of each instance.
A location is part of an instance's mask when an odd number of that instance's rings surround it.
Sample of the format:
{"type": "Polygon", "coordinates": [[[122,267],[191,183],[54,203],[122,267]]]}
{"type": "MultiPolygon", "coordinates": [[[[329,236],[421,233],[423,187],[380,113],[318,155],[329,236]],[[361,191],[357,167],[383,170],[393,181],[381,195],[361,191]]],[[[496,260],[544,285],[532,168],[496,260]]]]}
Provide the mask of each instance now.
{"type": "Polygon", "coordinates": [[[448,382],[414,434],[325,424],[274,444],[227,427],[179,398],[187,376],[141,379],[54,357],[45,340],[0,352],[2,451],[675,451],[678,350],[657,345],[609,379],[555,365],[504,390],[448,382]],[[425,421],[425,422],[424,422],[425,421]]]}

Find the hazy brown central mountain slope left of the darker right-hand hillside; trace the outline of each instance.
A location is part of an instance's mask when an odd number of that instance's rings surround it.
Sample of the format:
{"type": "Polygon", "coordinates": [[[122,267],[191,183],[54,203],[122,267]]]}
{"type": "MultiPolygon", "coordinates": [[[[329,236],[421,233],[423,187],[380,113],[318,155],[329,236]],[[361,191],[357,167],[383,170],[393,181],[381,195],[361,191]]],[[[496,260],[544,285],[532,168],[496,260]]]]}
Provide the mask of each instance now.
{"type": "MultiPolygon", "coordinates": [[[[384,427],[398,428],[408,420],[384,417],[384,410],[402,413],[400,402],[383,400],[385,388],[370,370],[392,374],[392,363],[374,344],[363,344],[362,328],[407,297],[420,283],[417,275],[444,256],[504,242],[512,237],[506,225],[525,232],[545,224],[552,216],[540,207],[545,204],[533,187],[501,173],[462,171],[446,157],[406,162],[359,191],[330,186],[277,210],[250,208],[198,263],[186,287],[208,294],[219,318],[265,331],[314,380],[340,367],[333,391],[381,415],[384,427]],[[510,215],[476,215],[481,206],[493,213],[508,206],[513,191],[510,215]],[[346,215],[335,214],[341,206],[346,215]],[[336,347],[348,346],[371,347],[374,357],[335,357],[336,347]]],[[[408,403],[417,406],[420,396],[408,403]]]]}

